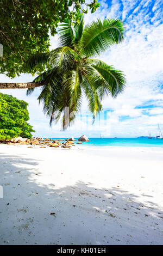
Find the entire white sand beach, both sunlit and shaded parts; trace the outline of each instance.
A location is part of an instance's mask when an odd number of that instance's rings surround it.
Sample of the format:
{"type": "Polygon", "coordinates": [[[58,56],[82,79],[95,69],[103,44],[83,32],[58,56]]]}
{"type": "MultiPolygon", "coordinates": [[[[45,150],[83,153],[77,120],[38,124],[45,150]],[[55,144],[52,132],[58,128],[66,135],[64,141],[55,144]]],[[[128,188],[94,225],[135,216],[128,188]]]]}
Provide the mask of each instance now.
{"type": "Polygon", "coordinates": [[[0,145],[1,245],[162,245],[163,149],[0,145]]]}

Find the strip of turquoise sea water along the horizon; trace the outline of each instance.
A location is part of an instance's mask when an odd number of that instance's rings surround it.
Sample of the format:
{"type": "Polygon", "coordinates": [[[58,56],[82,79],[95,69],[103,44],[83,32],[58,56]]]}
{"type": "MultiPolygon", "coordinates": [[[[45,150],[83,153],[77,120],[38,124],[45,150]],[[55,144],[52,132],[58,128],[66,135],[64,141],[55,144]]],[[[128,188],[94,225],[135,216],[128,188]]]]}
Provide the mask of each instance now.
{"type": "MultiPolygon", "coordinates": [[[[63,139],[63,138],[52,138],[63,139]]],[[[78,138],[75,138],[78,141],[78,138]]],[[[163,139],[148,138],[89,138],[90,142],[82,142],[81,147],[87,146],[121,146],[121,147],[163,147],[163,139]]],[[[76,142],[74,142],[76,143],[76,142]]]]}

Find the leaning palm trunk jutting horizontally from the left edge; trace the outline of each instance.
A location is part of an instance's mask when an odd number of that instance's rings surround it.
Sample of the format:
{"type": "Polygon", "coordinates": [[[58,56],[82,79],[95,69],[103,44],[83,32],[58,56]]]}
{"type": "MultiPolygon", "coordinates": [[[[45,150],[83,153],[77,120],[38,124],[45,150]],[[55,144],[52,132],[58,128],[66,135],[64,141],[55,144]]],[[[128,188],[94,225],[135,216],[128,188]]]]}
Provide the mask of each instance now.
{"type": "Polygon", "coordinates": [[[28,89],[43,86],[43,82],[31,83],[0,83],[0,89],[28,89]]]}

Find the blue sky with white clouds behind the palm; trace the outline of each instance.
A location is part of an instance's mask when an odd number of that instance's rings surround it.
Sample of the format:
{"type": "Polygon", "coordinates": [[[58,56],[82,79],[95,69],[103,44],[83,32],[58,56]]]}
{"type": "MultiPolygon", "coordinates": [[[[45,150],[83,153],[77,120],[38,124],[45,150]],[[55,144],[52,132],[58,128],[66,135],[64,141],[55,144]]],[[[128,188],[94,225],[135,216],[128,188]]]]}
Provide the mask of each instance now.
{"type": "MultiPolygon", "coordinates": [[[[93,14],[85,15],[85,23],[104,17],[122,19],[126,24],[126,38],[120,45],[112,46],[99,59],[123,70],[127,87],[116,99],[110,96],[103,100],[103,112],[92,125],[92,115],[88,112],[83,97],[82,116],[66,132],[61,125],[49,127],[49,120],[42,113],[37,102],[40,89],[26,96],[24,89],[1,90],[29,103],[30,124],[34,126],[34,136],[42,137],[136,137],[157,133],[157,124],[163,130],[163,22],[162,1],[112,0],[99,1],[101,7],[93,14]]],[[[57,47],[57,36],[51,37],[51,49],[57,47]]],[[[10,80],[0,75],[1,82],[30,82],[31,75],[22,74],[10,80]]]]}

